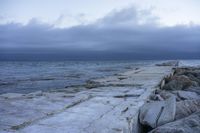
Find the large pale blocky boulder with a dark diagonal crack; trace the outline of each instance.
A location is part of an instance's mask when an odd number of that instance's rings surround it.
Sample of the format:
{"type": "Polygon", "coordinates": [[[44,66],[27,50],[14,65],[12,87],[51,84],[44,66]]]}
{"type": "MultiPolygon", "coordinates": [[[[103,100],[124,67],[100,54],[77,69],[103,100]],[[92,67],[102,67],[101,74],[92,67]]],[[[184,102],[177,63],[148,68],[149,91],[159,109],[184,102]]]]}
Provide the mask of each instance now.
{"type": "Polygon", "coordinates": [[[165,101],[144,104],[140,109],[139,120],[142,125],[152,128],[171,122],[175,118],[176,99],[170,97],[165,101]]]}

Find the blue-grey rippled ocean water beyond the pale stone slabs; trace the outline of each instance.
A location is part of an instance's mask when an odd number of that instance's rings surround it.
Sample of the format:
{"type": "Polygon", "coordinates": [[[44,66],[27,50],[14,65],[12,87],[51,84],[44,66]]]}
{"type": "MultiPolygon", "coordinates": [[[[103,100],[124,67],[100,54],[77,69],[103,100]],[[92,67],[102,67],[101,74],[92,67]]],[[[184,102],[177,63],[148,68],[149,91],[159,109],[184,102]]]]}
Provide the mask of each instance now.
{"type": "MultiPolygon", "coordinates": [[[[30,93],[81,85],[87,80],[103,78],[160,61],[2,61],[0,94],[30,93]]],[[[180,64],[200,65],[199,60],[180,64]]]]}

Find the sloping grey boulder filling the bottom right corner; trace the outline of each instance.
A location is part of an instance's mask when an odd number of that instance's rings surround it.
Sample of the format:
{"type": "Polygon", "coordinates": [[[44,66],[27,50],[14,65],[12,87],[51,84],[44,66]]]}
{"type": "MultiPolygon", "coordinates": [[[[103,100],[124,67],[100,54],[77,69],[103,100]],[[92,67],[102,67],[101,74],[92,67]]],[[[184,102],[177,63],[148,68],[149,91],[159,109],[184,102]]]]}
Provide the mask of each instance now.
{"type": "Polygon", "coordinates": [[[200,112],[157,127],[150,133],[200,133],[200,112]]]}

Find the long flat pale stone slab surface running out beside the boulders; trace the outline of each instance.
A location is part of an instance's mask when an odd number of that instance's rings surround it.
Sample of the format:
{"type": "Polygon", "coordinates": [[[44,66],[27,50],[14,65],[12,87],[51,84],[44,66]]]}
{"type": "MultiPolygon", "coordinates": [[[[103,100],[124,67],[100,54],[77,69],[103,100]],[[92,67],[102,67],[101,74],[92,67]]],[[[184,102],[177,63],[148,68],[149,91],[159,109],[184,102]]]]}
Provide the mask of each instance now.
{"type": "Polygon", "coordinates": [[[70,93],[66,88],[59,92],[0,95],[0,132],[133,131],[139,108],[159,86],[161,79],[171,73],[171,68],[141,67],[94,80],[99,87],[82,88],[76,93],[70,93]]]}

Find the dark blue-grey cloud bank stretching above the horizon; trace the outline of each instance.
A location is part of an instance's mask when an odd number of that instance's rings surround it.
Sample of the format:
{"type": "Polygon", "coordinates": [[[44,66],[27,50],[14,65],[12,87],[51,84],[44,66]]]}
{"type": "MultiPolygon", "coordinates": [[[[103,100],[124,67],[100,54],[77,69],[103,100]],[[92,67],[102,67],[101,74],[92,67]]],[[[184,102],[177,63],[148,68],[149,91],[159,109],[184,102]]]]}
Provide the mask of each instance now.
{"type": "Polygon", "coordinates": [[[200,26],[161,27],[157,19],[128,8],[65,29],[35,19],[0,25],[0,59],[200,58],[200,26]]]}

